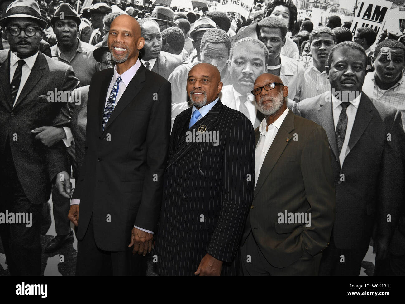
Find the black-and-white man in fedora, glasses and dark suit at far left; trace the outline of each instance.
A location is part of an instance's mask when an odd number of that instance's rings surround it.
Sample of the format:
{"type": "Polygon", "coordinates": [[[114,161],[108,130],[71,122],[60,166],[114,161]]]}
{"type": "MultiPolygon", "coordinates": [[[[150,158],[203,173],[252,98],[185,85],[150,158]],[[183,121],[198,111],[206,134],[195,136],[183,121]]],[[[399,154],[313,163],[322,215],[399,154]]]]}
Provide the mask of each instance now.
{"type": "Polygon", "coordinates": [[[79,80],[72,67],[38,51],[46,22],[34,0],[11,3],[0,24],[10,44],[0,51],[0,212],[32,215],[27,224],[0,225],[0,236],[10,274],[39,276],[42,205],[53,183],[66,197],[71,184],[64,144],[44,147],[30,131],[51,125],[62,108],[49,92],[70,92],[79,80]]]}

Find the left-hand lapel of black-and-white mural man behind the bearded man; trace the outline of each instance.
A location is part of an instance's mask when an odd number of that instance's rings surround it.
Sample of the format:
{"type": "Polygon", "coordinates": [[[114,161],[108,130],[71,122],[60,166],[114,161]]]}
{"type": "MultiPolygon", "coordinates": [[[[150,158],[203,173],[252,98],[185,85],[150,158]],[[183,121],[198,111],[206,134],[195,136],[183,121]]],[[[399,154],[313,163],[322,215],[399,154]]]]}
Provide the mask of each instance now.
{"type": "Polygon", "coordinates": [[[335,158],[339,160],[339,154],[337,153],[335,125],[333,124],[332,102],[326,101],[331,100],[330,98],[327,98],[328,94],[331,94],[330,91],[325,92],[321,97],[320,108],[318,109],[318,117],[320,125],[325,129],[326,134],[328,135],[330,149],[335,155],[335,158]]]}

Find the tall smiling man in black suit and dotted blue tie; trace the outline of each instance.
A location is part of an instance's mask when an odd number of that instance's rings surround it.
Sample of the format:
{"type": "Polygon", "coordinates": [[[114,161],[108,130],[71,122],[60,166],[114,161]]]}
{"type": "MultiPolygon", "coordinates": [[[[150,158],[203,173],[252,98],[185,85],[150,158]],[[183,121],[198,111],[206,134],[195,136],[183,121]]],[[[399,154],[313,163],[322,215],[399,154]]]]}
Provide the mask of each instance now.
{"type": "Polygon", "coordinates": [[[144,39],[131,16],[114,19],[108,45],[117,64],[90,82],[86,152],[69,212],[78,225],[76,275],[145,275],[162,203],[171,85],[139,61],[144,39]]]}

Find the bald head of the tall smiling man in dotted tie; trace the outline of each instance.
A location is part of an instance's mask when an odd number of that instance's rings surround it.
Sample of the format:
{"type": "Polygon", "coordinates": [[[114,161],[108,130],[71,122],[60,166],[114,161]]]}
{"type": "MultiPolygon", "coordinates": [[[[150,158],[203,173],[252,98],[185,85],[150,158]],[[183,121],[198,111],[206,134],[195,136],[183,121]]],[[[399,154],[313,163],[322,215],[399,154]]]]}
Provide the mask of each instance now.
{"type": "Polygon", "coordinates": [[[119,15],[111,22],[108,47],[115,62],[126,63],[131,67],[136,63],[139,50],[144,44],[141,27],[130,15],[119,15]]]}

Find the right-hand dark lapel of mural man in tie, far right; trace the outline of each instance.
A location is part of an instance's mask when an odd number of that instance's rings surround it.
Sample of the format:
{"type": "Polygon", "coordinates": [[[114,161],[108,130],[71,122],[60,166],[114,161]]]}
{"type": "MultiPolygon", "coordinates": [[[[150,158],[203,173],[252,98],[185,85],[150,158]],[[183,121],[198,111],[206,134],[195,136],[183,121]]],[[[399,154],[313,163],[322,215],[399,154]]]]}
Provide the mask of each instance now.
{"type": "Polygon", "coordinates": [[[347,144],[347,147],[349,148],[347,153],[349,153],[358,142],[360,136],[364,133],[364,130],[367,128],[367,125],[369,125],[370,120],[373,117],[373,114],[371,114],[373,108],[370,103],[371,101],[367,95],[362,93],[360,103],[358,104],[356,118],[354,119],[352,133],[350,134],[349,143],[347,144]]]}

